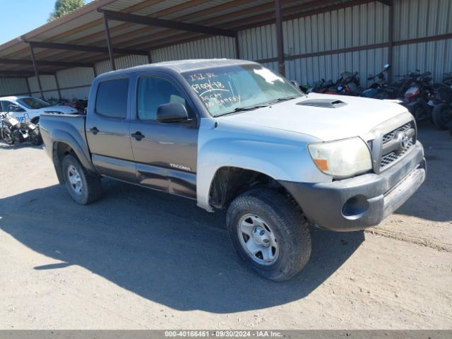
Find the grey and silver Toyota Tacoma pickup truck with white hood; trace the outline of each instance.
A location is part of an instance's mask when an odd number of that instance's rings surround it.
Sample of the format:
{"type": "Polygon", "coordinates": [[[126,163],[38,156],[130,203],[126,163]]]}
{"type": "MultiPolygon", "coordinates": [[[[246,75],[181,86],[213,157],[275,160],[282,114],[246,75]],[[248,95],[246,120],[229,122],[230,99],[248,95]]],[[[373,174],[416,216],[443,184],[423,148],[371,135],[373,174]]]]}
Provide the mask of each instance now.
{"type": "Polygon", "coordinates": [[[42,114],[41,132],[74,201],[109,177],[227,210],[239,258],[292,278],[310,226],[363,230],[399,208],[426,175],[417,126],[384,100],[302,93],[251,61],[171,61],[104,73],[86,115],[42,114]]]}

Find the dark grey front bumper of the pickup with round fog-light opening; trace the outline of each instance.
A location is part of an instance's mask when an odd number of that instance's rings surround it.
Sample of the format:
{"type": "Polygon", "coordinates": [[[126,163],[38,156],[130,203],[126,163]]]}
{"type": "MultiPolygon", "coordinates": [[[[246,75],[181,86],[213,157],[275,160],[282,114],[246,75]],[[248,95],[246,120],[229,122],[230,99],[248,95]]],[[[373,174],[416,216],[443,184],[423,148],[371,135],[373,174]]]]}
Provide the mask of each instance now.
{"type": "Polygon", "coordinates": [[[378,225],[415,193],[425,174],[424,150],[417,142],[410,153],[381,174],[362,174],[319,184],[280,184],[314,225],[347,232],[378,225]]]}

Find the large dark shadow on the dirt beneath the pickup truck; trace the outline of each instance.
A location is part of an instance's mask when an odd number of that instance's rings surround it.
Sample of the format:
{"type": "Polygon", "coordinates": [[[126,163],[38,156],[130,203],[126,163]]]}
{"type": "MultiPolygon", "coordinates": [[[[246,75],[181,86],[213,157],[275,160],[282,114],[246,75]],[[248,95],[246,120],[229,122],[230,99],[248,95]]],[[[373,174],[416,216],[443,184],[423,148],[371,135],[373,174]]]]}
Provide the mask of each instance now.
{"type": "Polygon", "coordinates": [[[64,186],[0,199],[0,228],[62,261],[43,261],[36,270],[83,266],[167,307],[215,313],[306,297],[364,241],[363,232],[313,230],[313,253],[302,275],[272,283],[239,263],[222,228],[224,214],[112,180],[105,179],[103,186],[102,200],[90,206],[73,203],[64,186]]]}

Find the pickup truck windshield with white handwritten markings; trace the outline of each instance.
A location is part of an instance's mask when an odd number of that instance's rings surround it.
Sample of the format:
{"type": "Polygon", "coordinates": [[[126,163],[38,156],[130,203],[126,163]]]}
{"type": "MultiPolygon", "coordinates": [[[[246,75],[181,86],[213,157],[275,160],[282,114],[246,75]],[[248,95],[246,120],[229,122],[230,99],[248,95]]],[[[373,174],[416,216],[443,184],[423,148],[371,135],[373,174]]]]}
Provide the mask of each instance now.
{"type": "Polygon", "coordinates": [[[301,97],[292,83],[256,64],[182,73],[213,117],[301,97]]]}

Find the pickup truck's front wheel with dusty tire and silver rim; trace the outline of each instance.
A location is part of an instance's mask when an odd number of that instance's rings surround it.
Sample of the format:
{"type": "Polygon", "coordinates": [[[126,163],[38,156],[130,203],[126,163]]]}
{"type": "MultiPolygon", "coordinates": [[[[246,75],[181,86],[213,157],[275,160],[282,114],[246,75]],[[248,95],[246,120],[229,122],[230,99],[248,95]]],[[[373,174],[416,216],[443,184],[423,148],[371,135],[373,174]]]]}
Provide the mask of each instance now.
{"type": "Polygon", "coordinates": [[[309,261],[309,224],[300,208],[278,192],[254,189],[237,196],[226,224],[237,256],[263,278],[289,280],[309,261]]]}

